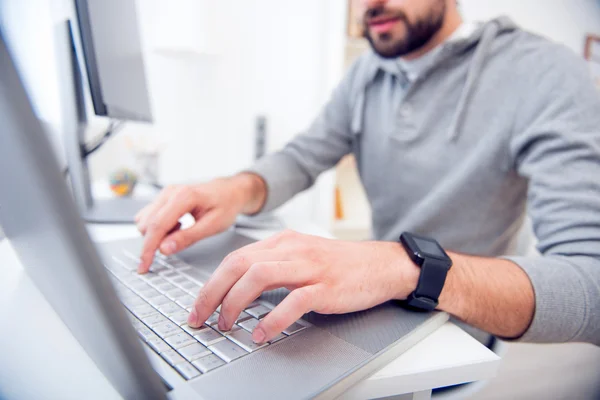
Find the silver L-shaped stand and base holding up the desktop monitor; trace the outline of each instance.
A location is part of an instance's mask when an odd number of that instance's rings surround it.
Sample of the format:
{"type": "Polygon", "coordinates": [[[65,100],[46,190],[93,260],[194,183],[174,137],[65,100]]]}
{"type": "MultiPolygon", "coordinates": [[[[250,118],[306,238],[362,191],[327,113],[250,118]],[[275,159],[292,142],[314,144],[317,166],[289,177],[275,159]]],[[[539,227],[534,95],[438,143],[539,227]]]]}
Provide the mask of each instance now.
{"type": "Polygon", "coordinates": [[[151,199],[92,196],[85,131],[88,126],[83,74],[77,58],[73,26],[65,21],[59,26],[57,54],[61,100],[64,111],[64,145],[71,190],[81,216],[94,223],[133,223],[137,212],[151,199]]]}

